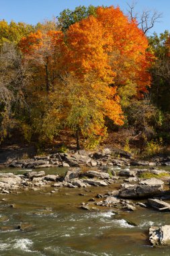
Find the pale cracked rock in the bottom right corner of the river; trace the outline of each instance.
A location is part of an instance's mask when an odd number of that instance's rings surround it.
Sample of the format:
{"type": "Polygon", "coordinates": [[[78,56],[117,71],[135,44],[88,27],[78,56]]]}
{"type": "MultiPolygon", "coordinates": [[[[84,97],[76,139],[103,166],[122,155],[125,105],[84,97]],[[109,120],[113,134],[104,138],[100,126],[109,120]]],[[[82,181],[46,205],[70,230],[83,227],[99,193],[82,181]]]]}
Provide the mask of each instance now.
{"type": "Polygon", "coordinates": [[[151,226],[149,228],[149,241],[152,245],[170,245],[170,225],[151,226]]]}

